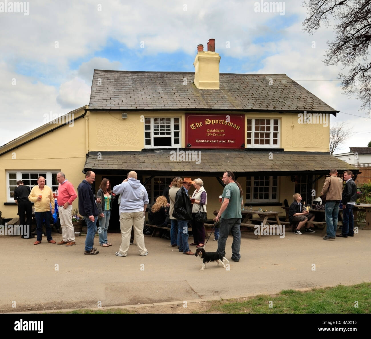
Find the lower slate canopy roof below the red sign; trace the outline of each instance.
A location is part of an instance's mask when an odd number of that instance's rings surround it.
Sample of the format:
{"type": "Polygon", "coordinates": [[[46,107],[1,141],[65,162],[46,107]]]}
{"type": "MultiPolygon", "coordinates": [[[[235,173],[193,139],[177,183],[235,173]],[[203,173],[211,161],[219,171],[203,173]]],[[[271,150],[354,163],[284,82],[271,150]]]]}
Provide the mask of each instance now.
{"type": "MultiPolygon", "coordinates": [[[[181,154],[181,151],[188,151],[188,149],[179,149],[179,154],[181,154]]],[[[177,161],[174,152],[177,151],[108,151],[101,152],[101,159],[97,158],[97,152],[89,152],[84,169],[85,171],[97,169],[104,171],[122,170],[125,173],[130,170],[140,173],[151,171],[203,172],[218,175],[226,170],[236,173],[276,172],[279,175],[285,175],[285,172],[293,174],[293,172],[311,171],[315,171],[316,174],[320,172],[328,174],[331,168],[337,168],[340,173],[349,169],[349,164],[346,162],[328,153],[321,152],[272,151],[273,158],[269,159],[269,151],[203,149],[200,151],[200,158],[195,157],[191,161],[189,161],[189,156],[188,161],[177,161]],[[197,159],[199,159],[198,164],[196,164],[197,159]]],[[[358,172],[357,167],[352,168],[352,170],[358,172]]]]}

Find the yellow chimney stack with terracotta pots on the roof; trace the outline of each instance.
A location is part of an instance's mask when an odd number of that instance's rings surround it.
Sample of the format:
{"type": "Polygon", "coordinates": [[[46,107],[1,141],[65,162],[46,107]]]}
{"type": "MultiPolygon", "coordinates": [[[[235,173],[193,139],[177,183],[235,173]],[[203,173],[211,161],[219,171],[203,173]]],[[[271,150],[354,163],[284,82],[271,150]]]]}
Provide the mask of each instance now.
{"type": "Polygon", "coordinates": [[[203,45],[197,46],[194,59],[194,84],[198,89],[219,89],[220,56],[215,53],[215,39],[209,39],[207,51],[203,45]]]}

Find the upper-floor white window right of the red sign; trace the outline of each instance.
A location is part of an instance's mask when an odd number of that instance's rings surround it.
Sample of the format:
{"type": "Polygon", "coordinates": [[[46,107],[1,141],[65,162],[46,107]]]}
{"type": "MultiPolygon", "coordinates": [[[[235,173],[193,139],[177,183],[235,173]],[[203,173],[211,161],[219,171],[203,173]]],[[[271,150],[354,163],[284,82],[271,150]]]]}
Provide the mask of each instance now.
{"type": "Polygon", "coordinates": [[[247,119],[247,147],[279,148],[279,119],[247,119]]]}

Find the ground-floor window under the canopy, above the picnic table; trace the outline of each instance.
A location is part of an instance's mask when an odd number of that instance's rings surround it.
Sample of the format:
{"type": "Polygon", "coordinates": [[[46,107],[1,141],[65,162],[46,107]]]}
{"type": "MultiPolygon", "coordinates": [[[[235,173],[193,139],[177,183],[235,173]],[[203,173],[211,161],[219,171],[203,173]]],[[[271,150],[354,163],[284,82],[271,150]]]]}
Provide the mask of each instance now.
{"type": "Polygon", "coordinates": [[[278,202],[277,175],[260,175],[246,177],[247,203],[276,203],[278,202]]]}

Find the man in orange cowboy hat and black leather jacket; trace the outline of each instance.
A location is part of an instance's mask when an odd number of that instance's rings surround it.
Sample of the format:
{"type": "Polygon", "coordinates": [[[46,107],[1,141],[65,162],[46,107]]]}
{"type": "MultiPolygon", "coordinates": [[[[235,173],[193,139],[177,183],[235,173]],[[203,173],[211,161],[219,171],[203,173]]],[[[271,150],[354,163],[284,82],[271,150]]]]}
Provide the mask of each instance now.
{"type": "Polygon", "coordinates": [[[188,190],[194,181],[191,178],[184,178],[183,187],[175,195],[173,217],[178,220],[178,233],[180,234],[179,252],[193,256],[188,246],[188,221],[192,220],[191,200],[188,197],[188,190]]]}

